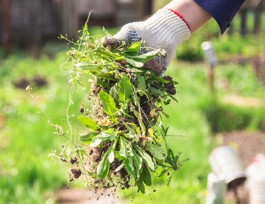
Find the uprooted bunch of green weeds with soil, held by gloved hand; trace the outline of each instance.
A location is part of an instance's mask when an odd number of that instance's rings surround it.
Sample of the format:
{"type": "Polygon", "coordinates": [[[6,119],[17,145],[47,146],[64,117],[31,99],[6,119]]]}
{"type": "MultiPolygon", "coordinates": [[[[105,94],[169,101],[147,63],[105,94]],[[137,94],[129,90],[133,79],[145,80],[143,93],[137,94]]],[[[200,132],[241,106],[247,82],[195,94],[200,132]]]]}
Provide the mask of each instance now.
{"type": "MultiPolygon", "coordinates": [[[[106,36],[113,38],[104,28],[103,31],[106,36]]],[[[163,111],[163,106],[169,105],[171,100],[177,102],[173,95],[178,84],[169,76],[160,77],[163,67],[152,69],[152,64],[157,66],[152,58],[164,55],[165,51],[146,48],[144,42],[126,44],[115,39],[114,45],[104,45],[101,37],[90,36],[87,23],[79,32],[83,32],[83,35],[77,43],[61,35],[61,38],[77,47],[67,52],[68,62],[72,63],[69,67],[69,82],[72,84],[69,106],[73,103],[73,92],[78,84],[86,90],[82,77],[90,75],[88,81],[92,86],[89,97],[93,98],[94,105],[90,114],[77,118],[87,127],[80,140],[89,146],[90,152],[92,150],[92,153],[99,154],[90,158],[88,148],[80,146],[75,137],[72,138],[76,134],[76,127],[73,131],[68,107],[69,146],[66,153],[63,149],[60,158],[71,162],[76,152],[86,178],[88,175],[96,181],[108,178],[112,186],[117,186],[120,181],[115,183],[113,176],[120,173],[120,180],[126,178],[133,181],[138,192],[145,193],[145,185],[152,185],[151,172],[158,166],[162,167],[159,176],[163,176],[169,171],[175,172],[186,161],[180,161],[180,153],[174,156],[168,147],[168,127],[162,124],[162,114],[169,117],[163,111]],[[148,52],[139,54],[141,49],[148,52]],[[86,157],[90,158],[88,166],[82,162],[86,157]]],[[[84,110],[83,104],[80,112],[84,110]]],[[[61,128],[54,127],[58,135],[66,135],[61,128]]],[[[80,172],[73,170],[72,177],[79,177],[80,172]]],[[[127,182],[123,185],[128,187],[127,182]]]]}

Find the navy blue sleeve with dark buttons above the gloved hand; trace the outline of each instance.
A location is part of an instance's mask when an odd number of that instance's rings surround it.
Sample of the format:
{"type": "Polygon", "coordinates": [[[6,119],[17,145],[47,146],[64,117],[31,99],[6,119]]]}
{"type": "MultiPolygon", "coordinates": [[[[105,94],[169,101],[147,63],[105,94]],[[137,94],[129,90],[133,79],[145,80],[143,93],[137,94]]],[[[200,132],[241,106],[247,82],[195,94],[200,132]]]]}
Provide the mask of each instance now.
{"type": "Polygon", "coordinates": [[[245,0],[194,0],[202,8],[213,16],[218,23],[221,34],[231,25],[232,19],[235,17],[239,7],[245,0]]]}

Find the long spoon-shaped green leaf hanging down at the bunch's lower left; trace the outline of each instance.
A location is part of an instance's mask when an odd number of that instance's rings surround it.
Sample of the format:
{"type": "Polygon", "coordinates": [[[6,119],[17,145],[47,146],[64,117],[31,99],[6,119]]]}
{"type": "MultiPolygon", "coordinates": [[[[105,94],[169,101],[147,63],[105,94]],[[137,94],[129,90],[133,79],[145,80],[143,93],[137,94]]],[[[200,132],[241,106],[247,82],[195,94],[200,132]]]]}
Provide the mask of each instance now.
{"type": "Polygon", "coordinates": [[[109,155],[113,149],[114,141],[112,142],[111,146],[107,150],[107,152],[104,154],[103,159],[99,163],[97,169],[96,169],[96,175],[99,178],[106,178],[109,174],[109,155]]]}

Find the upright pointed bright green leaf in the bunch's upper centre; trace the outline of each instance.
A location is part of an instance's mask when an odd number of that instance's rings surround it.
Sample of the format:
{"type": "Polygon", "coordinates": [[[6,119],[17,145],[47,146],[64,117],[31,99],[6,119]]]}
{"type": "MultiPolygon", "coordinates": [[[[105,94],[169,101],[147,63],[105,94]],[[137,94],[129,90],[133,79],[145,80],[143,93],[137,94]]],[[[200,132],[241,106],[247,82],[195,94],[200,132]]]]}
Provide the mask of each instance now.
{"type": "Polygon", "coordinates": [[[128,79],[126,73],[122,73],[121,79],[119,82],[119,102],[123,105],[126,103],[126,101],[130,98],[132,92],[132,85],[130,80],[128,79]]]}

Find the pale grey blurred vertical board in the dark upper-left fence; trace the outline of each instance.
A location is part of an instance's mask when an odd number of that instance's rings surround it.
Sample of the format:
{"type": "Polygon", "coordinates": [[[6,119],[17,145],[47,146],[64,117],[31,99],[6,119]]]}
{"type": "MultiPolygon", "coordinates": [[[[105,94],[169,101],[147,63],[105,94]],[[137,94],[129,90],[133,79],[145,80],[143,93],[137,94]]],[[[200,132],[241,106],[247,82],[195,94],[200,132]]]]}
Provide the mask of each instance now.
{"type": "Polygon", "coordinates": [[[78,30],[78,5],[77,0],[61,0],[61,34],[69,40],[77,39],[78,30]]]}

